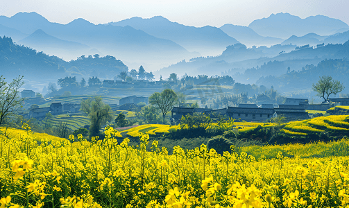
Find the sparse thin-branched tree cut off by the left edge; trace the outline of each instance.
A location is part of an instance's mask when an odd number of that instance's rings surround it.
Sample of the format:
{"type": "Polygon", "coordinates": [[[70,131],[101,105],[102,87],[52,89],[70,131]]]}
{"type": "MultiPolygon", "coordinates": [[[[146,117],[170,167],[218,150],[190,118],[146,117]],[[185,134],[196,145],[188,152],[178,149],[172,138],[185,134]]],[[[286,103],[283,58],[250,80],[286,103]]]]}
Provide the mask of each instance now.
{"type": "Polygon", "coordinates": [[[15,114],[23,99],[19,98],[19,87],[24,85],[23,76],[18,76],[11,83],[6,83],[0,76],[0,126],[8,116],[15,114]]]}

